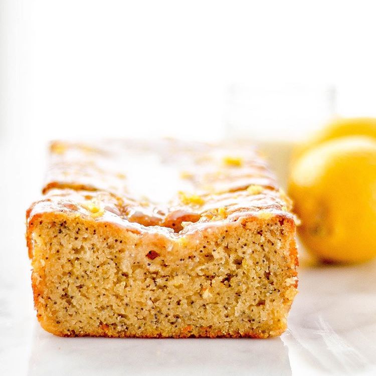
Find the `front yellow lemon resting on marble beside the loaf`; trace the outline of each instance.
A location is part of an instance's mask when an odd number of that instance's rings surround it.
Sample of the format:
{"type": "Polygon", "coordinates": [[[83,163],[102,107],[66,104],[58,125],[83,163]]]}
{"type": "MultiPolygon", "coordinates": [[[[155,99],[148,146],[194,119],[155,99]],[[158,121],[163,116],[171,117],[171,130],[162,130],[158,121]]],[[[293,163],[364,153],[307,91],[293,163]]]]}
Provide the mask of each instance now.
{"type": "Polygon", "coordinates": [[[321,260],[376,256],[376,140],[341,137],[305,152],[292,168],[289,194],[300,237],[321,260]]]}

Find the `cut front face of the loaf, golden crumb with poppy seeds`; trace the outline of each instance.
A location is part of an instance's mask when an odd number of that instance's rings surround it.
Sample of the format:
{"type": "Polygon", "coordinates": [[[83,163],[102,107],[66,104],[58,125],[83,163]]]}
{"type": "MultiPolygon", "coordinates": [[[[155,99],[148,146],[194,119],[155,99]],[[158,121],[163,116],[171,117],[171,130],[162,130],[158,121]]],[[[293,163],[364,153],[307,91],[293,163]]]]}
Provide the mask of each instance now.
{"type": "Polygon", "coordinates": [[[39,213],[27,237],[37,317],[60,336],[266,338],[297,291],[295,224],[281,215],[168,239],[39,213]]]}

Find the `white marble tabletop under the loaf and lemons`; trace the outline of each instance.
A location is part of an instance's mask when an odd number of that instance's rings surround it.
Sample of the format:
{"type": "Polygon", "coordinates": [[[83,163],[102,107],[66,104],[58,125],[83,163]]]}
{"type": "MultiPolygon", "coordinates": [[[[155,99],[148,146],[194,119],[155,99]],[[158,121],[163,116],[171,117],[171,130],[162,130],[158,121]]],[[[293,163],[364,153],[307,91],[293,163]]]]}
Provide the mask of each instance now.
{"type": "Polygon", "coordinates": [[[59,338],[33,310],[25,209],[44,145],[0,142],[0,375],[376,374],[376,262],[299,270],[289,329],[279,338],[59,338]]]}

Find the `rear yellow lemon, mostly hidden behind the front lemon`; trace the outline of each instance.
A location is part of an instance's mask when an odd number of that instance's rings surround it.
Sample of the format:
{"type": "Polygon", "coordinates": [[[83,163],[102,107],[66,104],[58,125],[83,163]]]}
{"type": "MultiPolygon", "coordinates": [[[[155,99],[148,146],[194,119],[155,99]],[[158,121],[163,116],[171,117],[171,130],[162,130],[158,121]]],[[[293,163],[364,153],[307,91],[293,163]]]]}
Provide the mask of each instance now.
{"type": "Polygon", "coordinates": [[[376,118],[353,117],[333,119],[309,141],[303,142],[294,150],[292,162],[294,163],[304,152],[324,141],[345,136],[369,136],[376,139],[376,118]]]}

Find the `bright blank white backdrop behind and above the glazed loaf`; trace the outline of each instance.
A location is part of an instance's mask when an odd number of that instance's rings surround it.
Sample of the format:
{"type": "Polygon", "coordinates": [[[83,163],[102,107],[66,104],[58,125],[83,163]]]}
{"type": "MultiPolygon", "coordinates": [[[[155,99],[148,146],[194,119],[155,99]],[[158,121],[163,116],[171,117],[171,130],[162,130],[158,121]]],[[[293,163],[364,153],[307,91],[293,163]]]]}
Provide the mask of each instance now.
{"type": "Polygon", "coordinates": [[[290,137],[328,114],[376,115],[375,10],[359,0],[0,0],[0,137],[216,139],[239,121],[251,136],[290,137]],[[233,109],[237,85],[259,113],[233,109]]]}

